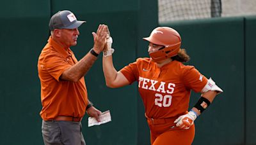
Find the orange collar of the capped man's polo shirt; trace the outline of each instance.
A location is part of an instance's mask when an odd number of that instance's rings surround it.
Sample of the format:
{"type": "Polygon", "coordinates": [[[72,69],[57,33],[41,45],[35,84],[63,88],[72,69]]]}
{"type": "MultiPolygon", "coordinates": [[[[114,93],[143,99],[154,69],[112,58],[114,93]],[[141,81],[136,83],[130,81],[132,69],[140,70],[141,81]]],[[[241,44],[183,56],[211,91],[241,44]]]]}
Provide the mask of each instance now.
{"type": "Polygon", "coordinates": [[[48,43],[50,46],[52,46],[52,48],[54,48],[61,55],[63,55],[63,57],[67,58],[72,56],[72,51],[70,50],[70,48],[68,48],[68,50],[65,50],[61,45],[59,45],[56,41],[54,41],[54,39],[52,39],[52,36],[49,37],[48,43]]]}

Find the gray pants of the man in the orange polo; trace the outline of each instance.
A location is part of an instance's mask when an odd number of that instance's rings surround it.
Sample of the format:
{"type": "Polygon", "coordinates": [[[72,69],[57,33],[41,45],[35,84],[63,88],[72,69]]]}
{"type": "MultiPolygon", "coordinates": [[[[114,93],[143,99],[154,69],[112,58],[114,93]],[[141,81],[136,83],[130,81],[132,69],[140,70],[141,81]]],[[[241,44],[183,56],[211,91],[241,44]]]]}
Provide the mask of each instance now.
{"type": "Polygon", "coordinates": [[[45,145],[85,145],[81,122],[42,121],[45,145]]]}

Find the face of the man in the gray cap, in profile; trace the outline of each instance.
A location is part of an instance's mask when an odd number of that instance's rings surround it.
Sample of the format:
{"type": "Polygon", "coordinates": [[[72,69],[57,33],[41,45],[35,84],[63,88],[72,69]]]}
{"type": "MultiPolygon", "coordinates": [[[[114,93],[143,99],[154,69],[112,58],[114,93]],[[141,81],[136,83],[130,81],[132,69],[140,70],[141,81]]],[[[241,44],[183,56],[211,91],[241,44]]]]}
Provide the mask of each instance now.
{"type": "Polygon", "coordinates": [[[61,39],[65,46],[75,46],[79,36],[78,29],[61,29],[61,39]]]}

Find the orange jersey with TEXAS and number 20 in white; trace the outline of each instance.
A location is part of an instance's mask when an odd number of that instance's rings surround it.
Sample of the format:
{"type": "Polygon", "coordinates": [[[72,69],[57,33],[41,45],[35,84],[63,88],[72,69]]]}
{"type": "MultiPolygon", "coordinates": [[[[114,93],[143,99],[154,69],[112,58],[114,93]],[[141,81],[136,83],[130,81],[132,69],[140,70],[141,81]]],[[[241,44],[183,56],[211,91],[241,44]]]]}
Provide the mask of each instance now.
{"type": "Polygon", "coordinates": [[[137,59],[121,72],[130,83],[138,81],[138,90],[149,118],[185,114],[191,90],[200,92],[207,83],[207,78],[195,67],[176,60],[159,68],[149,58],[137,59]]]}

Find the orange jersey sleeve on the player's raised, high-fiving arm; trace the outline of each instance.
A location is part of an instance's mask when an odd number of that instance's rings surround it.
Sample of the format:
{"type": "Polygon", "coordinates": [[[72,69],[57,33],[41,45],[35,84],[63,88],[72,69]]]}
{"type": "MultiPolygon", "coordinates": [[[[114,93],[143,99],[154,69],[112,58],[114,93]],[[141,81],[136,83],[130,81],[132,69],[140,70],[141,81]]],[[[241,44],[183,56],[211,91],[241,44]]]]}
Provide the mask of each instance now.
{"type": "Polygon", "coordinates": [[[137,69],[137,63],[133,62],[131,64],[129,64],[128,66],[125,66],[124,68],[122,68],[120,70],[120,72],[122,72],[122,74],[124,74],[125,78],[127,78],[127,80],[129,81],[130,85],[138,80],[138,69],[137,69]]]}

